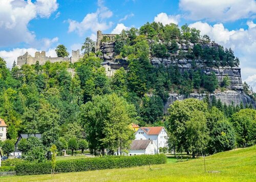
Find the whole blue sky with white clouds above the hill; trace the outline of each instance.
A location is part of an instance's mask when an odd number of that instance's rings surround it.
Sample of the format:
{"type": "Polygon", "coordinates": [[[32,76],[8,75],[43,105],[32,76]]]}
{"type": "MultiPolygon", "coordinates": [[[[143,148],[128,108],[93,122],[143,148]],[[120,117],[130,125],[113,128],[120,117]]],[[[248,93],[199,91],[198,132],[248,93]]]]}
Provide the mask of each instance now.
{"type": "Polygon", "coordinates": [[[189,24],[231,47],[240,58],[242,78],[256,90],[255,0],[0,0],[0,57],[10,67],[17,56],[34,56],[64,44],[71,52],[96,31],[119,33],[147,21],[189,24]]]}

